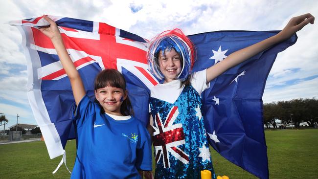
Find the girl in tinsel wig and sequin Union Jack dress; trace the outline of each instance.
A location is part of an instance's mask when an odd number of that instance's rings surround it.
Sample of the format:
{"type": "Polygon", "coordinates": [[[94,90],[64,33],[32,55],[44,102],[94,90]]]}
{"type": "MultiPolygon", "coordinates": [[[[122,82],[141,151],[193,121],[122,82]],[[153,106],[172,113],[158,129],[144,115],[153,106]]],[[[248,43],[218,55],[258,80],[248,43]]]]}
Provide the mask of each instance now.
{"type": "Polygon", "coordinates": [[[314,23],[311,14],[292,18],[277,35],[192,74],[195,47],[181,30],[165,31],[151,41],[149,67],[163,81],[150,90],[150,125],[157,163],[155,178],[199,179],[200,171],[207,169],[215,179],[204,117],[201,116],[201,93],[209,87],[211,80],[230,67],[288,39],[309,22],[314,23]]]}

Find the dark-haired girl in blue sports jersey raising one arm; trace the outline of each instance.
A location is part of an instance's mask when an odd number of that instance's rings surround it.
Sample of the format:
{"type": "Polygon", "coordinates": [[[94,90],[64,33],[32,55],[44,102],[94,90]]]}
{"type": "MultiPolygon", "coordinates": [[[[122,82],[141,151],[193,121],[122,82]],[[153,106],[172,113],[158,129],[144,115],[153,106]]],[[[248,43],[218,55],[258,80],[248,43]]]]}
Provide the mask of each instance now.
{"type": "MultiPolygon", "coordinates": [[[[73,179],[140,179],[138,170],[151,171],[150,136],[132,117],[126,82],[114,69],[101,71],[94,83],[95,102],[86,95],[82,79],[63,44],[55,22],[41,31],[51,39],[72,87],[77,109],[77,154],[73,179]]],[[[142,172],[141,172],[142,173],[142,172]]]]}

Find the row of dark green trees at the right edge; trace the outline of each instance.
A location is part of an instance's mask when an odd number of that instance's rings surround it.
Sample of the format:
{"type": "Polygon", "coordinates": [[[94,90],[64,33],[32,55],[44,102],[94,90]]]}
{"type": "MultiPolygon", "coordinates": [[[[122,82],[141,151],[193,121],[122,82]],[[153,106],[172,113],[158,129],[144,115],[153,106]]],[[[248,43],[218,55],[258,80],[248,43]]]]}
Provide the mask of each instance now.
{"type": "Polygon", "coordinates": [[[275,120],[281,120],[281,125],[295,125],[299,128],[301,122],[307,122],[310,127],[318,123],[318,100],[293,99],[290,101],[278,101],[263,104],[264,124],[268,128],[270,124],[277,128],[275,120]]]}

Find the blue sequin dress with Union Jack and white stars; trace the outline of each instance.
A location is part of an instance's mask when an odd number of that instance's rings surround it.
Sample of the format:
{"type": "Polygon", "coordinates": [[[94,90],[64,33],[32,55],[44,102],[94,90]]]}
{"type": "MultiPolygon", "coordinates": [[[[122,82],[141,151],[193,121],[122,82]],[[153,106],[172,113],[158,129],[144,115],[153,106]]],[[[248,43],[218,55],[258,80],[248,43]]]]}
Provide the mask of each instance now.
{"type": "Polygon", "coordinates": [[[211,171],[215,179],[201,107],[201,97],[191,85],[173,104],[150,99],[156,179],[201,179],[201,170],[211,171]]]}

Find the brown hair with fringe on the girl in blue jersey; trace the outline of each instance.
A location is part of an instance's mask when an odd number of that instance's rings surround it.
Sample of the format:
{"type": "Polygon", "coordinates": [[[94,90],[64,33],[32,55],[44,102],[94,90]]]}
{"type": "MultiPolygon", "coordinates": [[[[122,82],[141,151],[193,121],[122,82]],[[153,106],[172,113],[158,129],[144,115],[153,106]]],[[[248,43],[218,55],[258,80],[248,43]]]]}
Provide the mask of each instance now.
{"type": "MultiPolygon", "coordinates": [[[[104,69],[97,74],[94,82],[94,90],[97,91],[97,89],[105,87],[120,88],[124,91],[124,93],[127,92],[125,78],[119,71],[115,69],[104,69]]],[[[95,102],[100,105],[97,99],[95,99],[95,102]]],[[[103,107],[101,107],[101,112],[105,112],[103,107]]],[[[132,104],[130,103],[128,94],[120,106],[120,112],[122,115],[134,115],[134,110],[132,104]]]]}

